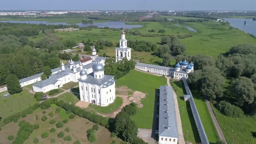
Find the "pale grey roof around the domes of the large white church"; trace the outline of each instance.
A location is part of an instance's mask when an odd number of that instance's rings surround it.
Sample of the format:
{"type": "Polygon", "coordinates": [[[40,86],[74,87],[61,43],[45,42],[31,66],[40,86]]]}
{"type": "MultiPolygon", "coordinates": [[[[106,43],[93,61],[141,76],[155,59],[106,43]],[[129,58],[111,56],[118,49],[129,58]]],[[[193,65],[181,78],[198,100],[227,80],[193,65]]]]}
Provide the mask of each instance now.
{"type": "Polygon", "coordinates": [[[108,82],[110,79],[113,79],[114,76],[112,75],[104,75],[103,78],[101,79],[96,79],[93,76],[93,73],[87,75],[86,79],[82,80],[82,79],[78,79],[79,82],[85,82],[85,83],[89,83],[92,85],[103,85],[104,83],[108,82]]]}

